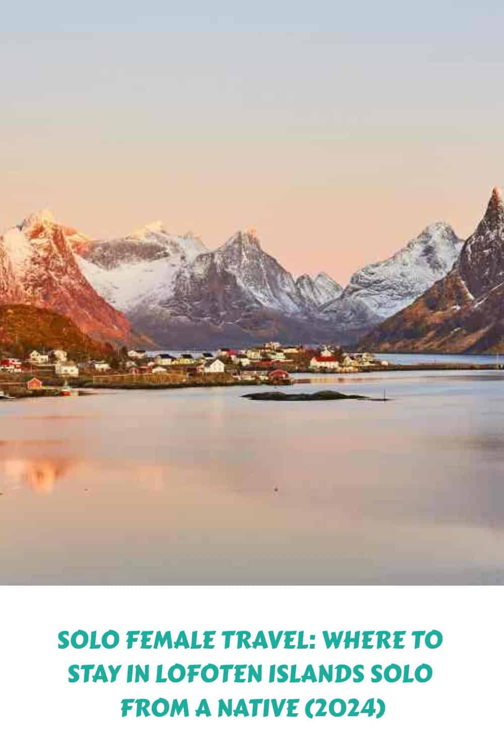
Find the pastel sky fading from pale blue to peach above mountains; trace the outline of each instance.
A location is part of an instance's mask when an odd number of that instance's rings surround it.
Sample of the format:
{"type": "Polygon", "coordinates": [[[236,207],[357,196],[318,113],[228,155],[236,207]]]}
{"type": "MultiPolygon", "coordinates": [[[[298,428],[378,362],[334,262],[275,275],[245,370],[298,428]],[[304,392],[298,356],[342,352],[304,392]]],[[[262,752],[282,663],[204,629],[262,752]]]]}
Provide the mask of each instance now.
{"type": "Polygon", "coordinates": [[[342,283],[430,222],[468,235],[504,183],[503,28],[490,0],[9,4],[0,228],[255,226],[342,283]]]}

